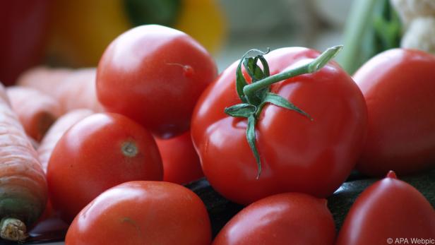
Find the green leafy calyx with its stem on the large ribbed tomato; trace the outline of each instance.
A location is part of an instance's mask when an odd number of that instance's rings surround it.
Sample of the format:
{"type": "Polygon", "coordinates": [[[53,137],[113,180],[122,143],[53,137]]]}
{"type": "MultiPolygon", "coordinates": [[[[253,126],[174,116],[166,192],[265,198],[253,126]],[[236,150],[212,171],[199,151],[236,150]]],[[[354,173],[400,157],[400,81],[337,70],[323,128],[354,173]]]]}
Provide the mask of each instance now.
{"type": "Polygon", "coordinates": [[[292,102],[286,100],[284,97],[281,97],[278,94],[270,92],[270,85],[288,78],[292,78],[294,76],[299,76],[306,73],[315,73],[323,68],[323,66],[325,66],[330,59],[333,59],[333,57],[338,54],[341,49],[342,45],[330,47],[309,63],[299,65],[295,68],[283,71],[282,73],[278,73],[273,76],[270,76],[268,62],[263,56],[264,54],[267,54],[269,50],[267,52],[261,52],[258,49],[251,49],[242,56],[242,59],[240,59],[239,66],[237,66],[236,71],[236,90],[237,95],[239,95],[240,100],[242,100],[242,103],[225,108],[225,113],[230,116],[244,117],[248,119],[246,139],[249,143],[252,153],[254,153],[258,167],[256,179],[258,179],[261,175],[261,159],[256,146],[255,126],[258,116],[261,114],[261,110],[266,103],[275,104],[278,107],[290,109],[306,116],[306,118],[313,121],[309,114],[304,112],[302,109],[299,109],[299,107],[292,104],[292,102]],[[259,54],[254,57],[248,56],[250,52],[258,52],[259,54]],[[260,61],[263,68],[258,66],[258,61],[260,61]],[[242,73],[242,65],[251,78],[251,83],[248,83],[244,78],[242,73]]]}

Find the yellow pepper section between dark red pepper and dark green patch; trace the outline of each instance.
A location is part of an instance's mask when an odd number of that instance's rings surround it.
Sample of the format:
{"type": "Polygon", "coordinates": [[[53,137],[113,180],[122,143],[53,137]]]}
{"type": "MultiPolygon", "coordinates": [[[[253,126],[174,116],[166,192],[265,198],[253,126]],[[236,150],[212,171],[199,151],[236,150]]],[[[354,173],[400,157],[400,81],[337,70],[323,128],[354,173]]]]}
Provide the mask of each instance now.
{"type": "Polygon", "coordinates": [[[49,59],[64,66],[95,66],[115,37],[131,26],[122,0],[53,1],[49,59]]]}

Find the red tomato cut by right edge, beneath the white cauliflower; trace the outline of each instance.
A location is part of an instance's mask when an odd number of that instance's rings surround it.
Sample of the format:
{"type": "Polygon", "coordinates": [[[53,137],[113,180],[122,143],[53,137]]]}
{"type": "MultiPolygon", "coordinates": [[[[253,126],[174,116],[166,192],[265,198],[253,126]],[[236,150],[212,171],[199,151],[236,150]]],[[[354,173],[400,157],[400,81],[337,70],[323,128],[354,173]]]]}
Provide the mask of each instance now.
{"type": "Polygon", "coordinates": [[[435,56],[391,49],[359,68],[354,80],[367,102],[367,141],[357,169],[383,176],[435,166],[435,56]]]}

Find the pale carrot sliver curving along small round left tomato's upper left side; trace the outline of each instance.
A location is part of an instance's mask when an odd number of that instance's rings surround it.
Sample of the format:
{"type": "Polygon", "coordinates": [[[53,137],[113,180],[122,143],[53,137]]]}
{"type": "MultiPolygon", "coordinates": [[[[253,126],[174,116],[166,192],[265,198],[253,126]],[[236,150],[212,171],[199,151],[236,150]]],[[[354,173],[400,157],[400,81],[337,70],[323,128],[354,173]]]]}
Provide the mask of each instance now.
{"type": "Polygon", "coordinates": [[[37,148],[37,153],[40,157],[40,162],[44,172],[47,172],[47,165],[50,156],[52,155],[54,146],[64,133],[76,122],[90,116],[94,112],[90,109],[73,109],[71,112],[59,117],[52,127],[47,131],[42,138],[40,147],[37,148]]]}

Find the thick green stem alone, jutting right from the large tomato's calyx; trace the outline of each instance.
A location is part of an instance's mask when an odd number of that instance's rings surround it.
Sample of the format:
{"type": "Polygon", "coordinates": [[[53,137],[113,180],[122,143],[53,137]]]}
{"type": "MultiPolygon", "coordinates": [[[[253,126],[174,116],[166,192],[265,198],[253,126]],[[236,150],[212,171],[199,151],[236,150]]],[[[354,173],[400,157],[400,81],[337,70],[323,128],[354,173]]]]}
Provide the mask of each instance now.
{"type": "Polygon", "coordinates": [[[323,52],[320,56],[318,56],[313,61],[309,62],[308,64],[304,64],[302,66],[298,66],[296,68],[292,68],[288,71],[283,71],[282,73],[275,74],[273,76],[268,76],[267,78],[263,78],[262,80],[258,80],[256,83],[251,83],[249,85],[244,86],[243,92],[244,95],[246,95],[246,99],[248,102],[251,102],[255,100],[255,93],[258,90],[261,90],[263,88],[267,88],[268,86],[272,85],[273,83],[278,83],[282,80],[292,78],[294,76],[306,74],[306,73],[314,73],[321,69],[323,66],[325,66],[330,59],[333,59],[335,55],[340,52],[340,49],[342,49],[342,45],[337,45],[334,47],[330,47],[329,49],[326,49],[325,52],[323,52]]]}

